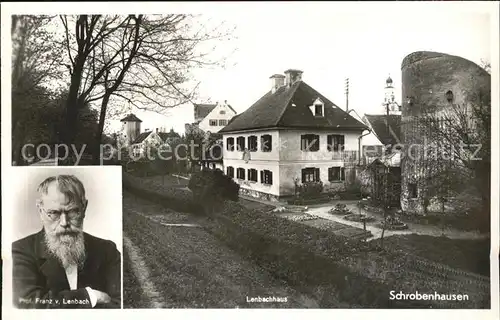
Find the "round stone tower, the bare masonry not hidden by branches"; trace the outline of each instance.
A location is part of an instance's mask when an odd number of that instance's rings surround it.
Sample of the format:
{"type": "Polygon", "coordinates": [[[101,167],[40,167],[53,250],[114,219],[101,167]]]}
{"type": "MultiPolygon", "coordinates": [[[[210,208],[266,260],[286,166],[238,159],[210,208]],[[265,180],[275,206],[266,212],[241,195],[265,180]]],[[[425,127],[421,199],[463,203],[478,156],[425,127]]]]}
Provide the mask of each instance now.
{"type": "Polygon", "coordinates": [[[469,106],[478,103],[479,97],[489,97],[491,76],[474,62],[429,51],[406,56],[401,72],[401,139],[405,146],[401,162],[401,207],[405,212],[421,213],[428,206],[422,199],[427,190],[419,179],[424,168],[412,157],[409,148],[429,141],[428,129],[418,124],[419,119],[423,114],[446,112],[454,104],[469,106]]]}

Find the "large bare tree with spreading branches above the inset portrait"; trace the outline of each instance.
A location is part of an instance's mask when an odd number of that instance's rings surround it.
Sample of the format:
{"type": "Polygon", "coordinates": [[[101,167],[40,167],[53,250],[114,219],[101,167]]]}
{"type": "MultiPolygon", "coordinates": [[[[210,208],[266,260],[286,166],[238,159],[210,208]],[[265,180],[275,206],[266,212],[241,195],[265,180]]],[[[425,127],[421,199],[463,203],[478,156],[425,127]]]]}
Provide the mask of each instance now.
{"type": "Polygon", "coordinates": [[[122,100],[160,112],[192,101],[197,84],[190,71],[222,62],[211,60],[214,48],[203,46],[230,35],[205,26],[196,30],[195,17],[183,14],[81,15],[73,19],[75,35],[69,31],[68,17],[61,20],[71,61],[68,142],[74,139],[76,114],[85,102],[100,103],[100,141],[110,103],[122,100]]]}

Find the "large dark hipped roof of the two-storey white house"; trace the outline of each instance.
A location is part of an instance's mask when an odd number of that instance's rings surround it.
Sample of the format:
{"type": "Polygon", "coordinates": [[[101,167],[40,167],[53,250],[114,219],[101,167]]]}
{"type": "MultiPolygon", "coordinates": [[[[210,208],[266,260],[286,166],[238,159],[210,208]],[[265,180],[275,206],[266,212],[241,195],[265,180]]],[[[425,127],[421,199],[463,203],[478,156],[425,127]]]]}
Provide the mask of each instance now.
{"type": "Polygon", "coordinates": [[[220,132],[264,128],[366,129],[366,125],[338,108],[304,81],[266,93],[245,112],[234,117],[220,132]],[[313,115],[309,106],[320,98],[324,116],[313,115]]]}

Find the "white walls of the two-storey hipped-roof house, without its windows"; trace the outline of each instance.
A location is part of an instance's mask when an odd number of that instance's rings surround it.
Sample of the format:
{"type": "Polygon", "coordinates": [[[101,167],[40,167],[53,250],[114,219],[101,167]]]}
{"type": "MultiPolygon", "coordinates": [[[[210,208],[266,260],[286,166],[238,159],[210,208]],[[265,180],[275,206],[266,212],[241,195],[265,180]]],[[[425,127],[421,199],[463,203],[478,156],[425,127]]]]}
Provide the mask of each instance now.
{"type": "MultiPolygon", "coordinates": [[[[227,174],[227,167],[234,168],[234,179],[243,189],[271,194],[274,196],[290,196],[294,194],[294,179],[298,178],[301,183],[302,169],[315,167],[320,169],[320,179],[325,185],[325,191],[329,189],[341,189],[345,187],[344,182],[329,182],[328,168],[344,167],[344,160],[334,157],[334,152],[327,150],[327,135],[344,135],[345,151],[358,151],[358,137],[361,132],[328,131],[315,132],[311,130],[262,130],[245,133],[224,134],[224,172],[227,174]],[[272,150],[270,152],[261,151],[261,136],[271,135],[272,150]],[[317,134],[320,143],[318,151],[302,151],[301,135],[317,134]],[[243,159],[243,152],[236,148],[237,138],[245,138],[245,148],[248,148],[248,137],[257,136],[257,151],[250,152],[250,159],[246,162],[243,159]],[[227,138],[234,138],[234,151],[229,151],[227,138]],[[245,180],[236,178],[237,168],[245,169],[245,180]],[[258,170],[258,182],[247,180],[247,169],[258,170]],[[270,170],[273,173],[273,185],[264,185],[260,181],[260,171],[270,170]]],[[[347,172],[346,172],[347,175],[347,172]]]]}

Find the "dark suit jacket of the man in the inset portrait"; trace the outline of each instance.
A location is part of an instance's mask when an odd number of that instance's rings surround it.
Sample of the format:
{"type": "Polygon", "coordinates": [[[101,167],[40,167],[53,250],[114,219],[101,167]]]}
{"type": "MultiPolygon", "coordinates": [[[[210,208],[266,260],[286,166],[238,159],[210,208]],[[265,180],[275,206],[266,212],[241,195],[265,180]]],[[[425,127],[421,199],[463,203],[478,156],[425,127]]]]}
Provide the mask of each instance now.
{"type": "Polygon", "coordinates": [[[63,266],[52,256],[40,231],[12,244],[13,298],[18,308],[92,308],[86,287],[106,292],[109,304],[121,307],[121,257],[114,242],[84,233],[87,259],[78,270],[76,290],[70,290],[63,266]],[[66,303],[65,303],[66,302],[66,303]],[[70,302],[68,304],[67,302],[70,302]]]}

